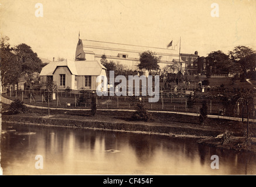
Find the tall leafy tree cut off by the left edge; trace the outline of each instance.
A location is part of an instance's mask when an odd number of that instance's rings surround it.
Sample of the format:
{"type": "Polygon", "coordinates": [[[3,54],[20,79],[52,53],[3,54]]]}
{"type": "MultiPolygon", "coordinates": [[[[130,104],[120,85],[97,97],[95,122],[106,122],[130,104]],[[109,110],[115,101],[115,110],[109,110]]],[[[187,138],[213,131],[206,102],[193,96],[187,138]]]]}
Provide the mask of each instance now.
{"type": "Polygon", "coordinates": [[[0,39],[1,47],[1,76],[2,76],[2,85],[14,85],[18,83],[22,67],[18,63],[17,57],[13,54],[13,48],[10,47],[9,37],[3,36],[0,39]]]}

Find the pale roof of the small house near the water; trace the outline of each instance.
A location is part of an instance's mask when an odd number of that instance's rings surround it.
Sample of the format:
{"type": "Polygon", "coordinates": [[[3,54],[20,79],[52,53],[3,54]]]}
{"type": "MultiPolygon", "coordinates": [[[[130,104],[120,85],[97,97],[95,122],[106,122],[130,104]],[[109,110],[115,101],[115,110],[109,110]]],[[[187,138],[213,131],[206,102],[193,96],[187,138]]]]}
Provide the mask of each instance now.
{"type": "Polygon", "coordinates": [[[53,75],[58,67],[67,67],[73,75],[100,75],[102,69],[107,70],[98,61],[53,61],[42,68],[40,76],[53,75]]]}

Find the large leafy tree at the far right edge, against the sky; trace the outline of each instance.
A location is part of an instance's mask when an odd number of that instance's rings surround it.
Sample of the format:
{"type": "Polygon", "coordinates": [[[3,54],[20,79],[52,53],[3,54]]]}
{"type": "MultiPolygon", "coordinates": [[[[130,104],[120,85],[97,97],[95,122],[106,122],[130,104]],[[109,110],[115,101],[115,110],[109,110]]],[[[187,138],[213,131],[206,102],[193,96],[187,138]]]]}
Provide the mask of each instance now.
{"type": "Polygon", "coordinates": [[[245,78],[248,78],[247,70],[255,71],[255,51],[250,47],[234,47],[233,51],[229,51],[229,55],[235,64],[239,64],[245,78]]]}

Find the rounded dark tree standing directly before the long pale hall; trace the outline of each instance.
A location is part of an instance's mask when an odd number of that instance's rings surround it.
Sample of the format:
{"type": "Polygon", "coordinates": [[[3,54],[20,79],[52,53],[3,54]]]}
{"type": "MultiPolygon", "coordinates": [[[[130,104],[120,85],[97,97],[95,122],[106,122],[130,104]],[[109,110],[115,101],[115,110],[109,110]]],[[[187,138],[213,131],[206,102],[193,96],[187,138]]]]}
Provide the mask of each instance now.
{"type": "Polygon", "coordinates": [[[138,64],[138,68],[140,70],[159,70],[158,63],[160,62],[160,58],[156,57],[156,53],[153,53],[152,51],[144,51],[143,53],[139,54],[139,61],[140,63],[138,64]]]}

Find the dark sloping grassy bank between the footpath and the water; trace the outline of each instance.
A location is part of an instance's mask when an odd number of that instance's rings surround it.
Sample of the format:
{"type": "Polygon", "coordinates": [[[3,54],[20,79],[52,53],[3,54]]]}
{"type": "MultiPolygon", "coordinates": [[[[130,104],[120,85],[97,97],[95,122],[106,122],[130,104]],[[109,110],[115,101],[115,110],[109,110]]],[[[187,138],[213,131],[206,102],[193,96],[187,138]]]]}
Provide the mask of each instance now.
{"type": "MultiPolygon", "coordinates": [[[[29,109],[29,112],[18,115],[4,113],[2,120],[3,122],[29,125],[63,126],[128,133],[160,134],[179,138],[197,138],[200,144],[231,148],[238,151],[254,151],[256,153],[254,141],[250,146],[243,144],[244,130],[247,127],[247,124],[243,122],[208,118],[201,125],[197,116],[170,113],[152,113],[152,121],[139,122],[131,119],[132,112],[97,111],[96,116],[91,116],[90,110],[50,110],[51,116],[47,116],[47,112],[46,109],[29,109]],[[216,138],[225,131],[233,134],[234,141],[223,144],[221,143],[221,138],[216,138]]],[[[250,125],[250,132],[252,137],[256,137],[254,123],[250,125]]]]}

